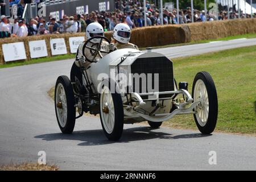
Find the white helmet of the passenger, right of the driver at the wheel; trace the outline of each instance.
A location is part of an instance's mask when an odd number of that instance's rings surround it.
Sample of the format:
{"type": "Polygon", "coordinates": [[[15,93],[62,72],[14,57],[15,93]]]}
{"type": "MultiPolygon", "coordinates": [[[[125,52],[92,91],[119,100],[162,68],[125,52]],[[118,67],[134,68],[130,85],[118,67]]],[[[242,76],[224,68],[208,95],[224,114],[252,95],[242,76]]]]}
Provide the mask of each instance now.
{"type": "Polygon", "coordinates": [[[113,38],[118,42],[127,44],[131,38],[131,29],[125,23],[119,23],[114,27],[113,38]]]}

